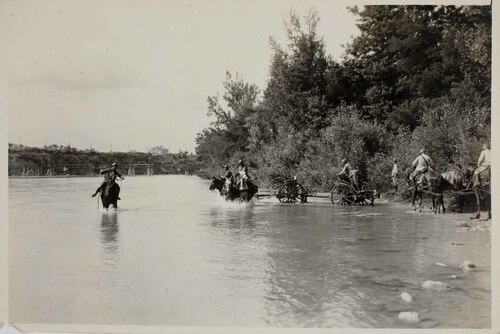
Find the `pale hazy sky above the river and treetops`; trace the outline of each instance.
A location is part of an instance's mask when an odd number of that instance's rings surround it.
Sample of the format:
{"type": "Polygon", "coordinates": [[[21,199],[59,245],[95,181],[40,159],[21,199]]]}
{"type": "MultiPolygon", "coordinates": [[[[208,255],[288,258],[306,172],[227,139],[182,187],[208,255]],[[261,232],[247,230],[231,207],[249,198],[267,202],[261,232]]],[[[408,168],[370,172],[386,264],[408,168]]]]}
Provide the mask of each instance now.
{"type": "Polygon", "coordinates": [[[17,1],[10,29],[9,142],[194,151],[225,72],[264,88],[269,37],[315,8],[337,59],[357,33],[342,1],[17,1]]]}

